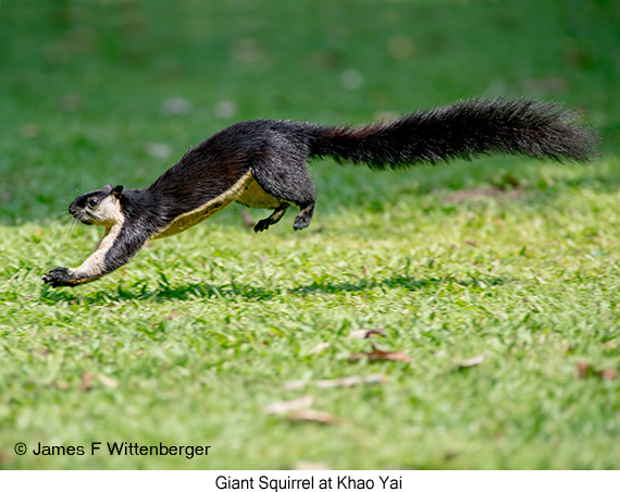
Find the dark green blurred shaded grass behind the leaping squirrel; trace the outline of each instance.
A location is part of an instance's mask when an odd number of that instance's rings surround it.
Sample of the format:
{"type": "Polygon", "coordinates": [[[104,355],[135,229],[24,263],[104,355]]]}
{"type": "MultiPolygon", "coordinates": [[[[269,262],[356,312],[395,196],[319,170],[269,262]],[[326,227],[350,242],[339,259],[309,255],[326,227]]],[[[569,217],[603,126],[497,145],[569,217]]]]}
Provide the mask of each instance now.
{"type": "MultiPolygon", "coordinates": [[[[245,119],[360,123],[459,98],[543,97],[581,109],[605,149],[618,146],[613,1],[22,0],[0,15],[8,224],[41,220],[108,182],[148,185],[187,148],[245,119]]],[[[514,162],[407,180],[422,193],[458,188],[514,162]]],[[[404,180],[335,165],[313,172],[321,212],[382,201],[404,180]]]]}

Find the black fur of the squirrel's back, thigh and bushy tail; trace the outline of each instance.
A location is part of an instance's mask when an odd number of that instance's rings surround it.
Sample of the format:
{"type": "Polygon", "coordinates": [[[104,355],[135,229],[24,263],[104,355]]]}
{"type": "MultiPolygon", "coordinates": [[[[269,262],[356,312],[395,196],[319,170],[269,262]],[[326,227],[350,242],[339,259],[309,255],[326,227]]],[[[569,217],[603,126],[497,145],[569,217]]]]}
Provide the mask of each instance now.
{"type": "Polygon", "coordinates": [[[595,151],[596,137],[578,121],[556,103],[504,99],[461,101],[354,127],[245,121],[190,149],[142,190],[138,214],[150,209],[158,225],[169,223],[222,195],[251,169],[269,195],[310,209],[311,217],[317,192],[307,163],[313,157],[375,169],[491,153],[585,161],[595,151]]]}

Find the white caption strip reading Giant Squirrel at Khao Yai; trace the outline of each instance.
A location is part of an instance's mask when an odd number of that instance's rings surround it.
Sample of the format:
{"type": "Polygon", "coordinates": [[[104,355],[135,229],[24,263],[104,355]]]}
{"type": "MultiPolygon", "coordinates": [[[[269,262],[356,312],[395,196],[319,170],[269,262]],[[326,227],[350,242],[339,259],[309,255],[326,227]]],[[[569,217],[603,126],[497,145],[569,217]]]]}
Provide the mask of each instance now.
{"type": "MultiPolygon", "coordinates": [[[[225,481],[225,480],[224,480],[225,481]]],[[[255,490],[293,492],[303,490],[372,490],[372,491],[449,491],[449,492],[596,492],[617,491],[620,471],[0,471],[2,490],[7,491],[63,491],[63,492],[122,492],[122,491],[201,491],[255,490]],[[344,476],[372,483],[372,489],[338,487],[344,476]],[[218,488],[218,477],[233,480],[253,479],[253,488],[218,488]],[[274,489],[266,480],[312,479],[314,488],[274,489]],[[383,488],[381,477],[400,480],[401,487],[383,488]],[[321,489],[321,480],[332,479],[331,489],[321,489]],[[264,484],[268,487],[263,487],[264,484]]],[[[220,484],[222,479],[220,479],[220,484]]],[[[241,482],[238,482],[241,483],[241,482]]],[[[274,482],[272,482],[274,483],[274,482]]],[[[327,483],[327,482],[323,482],[327,483]]]]}

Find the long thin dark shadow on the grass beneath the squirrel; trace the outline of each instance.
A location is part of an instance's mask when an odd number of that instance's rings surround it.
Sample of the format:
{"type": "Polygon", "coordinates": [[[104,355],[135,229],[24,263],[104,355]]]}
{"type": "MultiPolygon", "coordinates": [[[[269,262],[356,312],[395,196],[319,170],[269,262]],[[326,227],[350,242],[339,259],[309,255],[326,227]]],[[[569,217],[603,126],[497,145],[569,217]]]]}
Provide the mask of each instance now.
{"type": "Polygon", "coordinates": [[[340,294],[343,292],[364,293],[373,288],[405,288],[407,291],[425,291],[427,294],[435,293],[441,286],[460,285],[466,287],[479,287],[485,285],[503,285],[507,282],[500,278],[484,278],[473,280],[457,279],[422,279],[417,280],[410,276],[392,276],[383,280],[360,280],[358,282],[327,283],[314,281],[310,285],[297,286],[294,288],[272,290],[257,287],[253,285],[241,285],[235,282],[225,285],[212,285],[208,283],[193,283],[182,286],[170,286],[161,284],[159,288],[151,291],[147,284],[135,284],[133,288],[125,290],[119,285],[116,292],[98,291],[90,295],[83,296],[75,291],[54,291],[51,287],[44,287],[41,291],[41,302],[55,304],[59,302],[88,302],[95,305],[111,305],[124,303],[126,300],[148,300],[156,303],[166,303],[171,300],[188,300],[196,298],[241,298],[244,300],[270,300],[278,296],[307,296],[312,294],[340,294]]]}

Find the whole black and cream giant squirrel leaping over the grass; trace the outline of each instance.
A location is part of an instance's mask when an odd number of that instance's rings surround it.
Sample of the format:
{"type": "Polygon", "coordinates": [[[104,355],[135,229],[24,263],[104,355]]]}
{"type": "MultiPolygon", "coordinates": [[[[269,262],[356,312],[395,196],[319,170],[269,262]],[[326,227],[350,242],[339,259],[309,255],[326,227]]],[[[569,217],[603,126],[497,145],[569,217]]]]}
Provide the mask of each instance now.
{"type": "Polygon", "coordinates": [[[587,161],[596,143],[575,113],[538,100],[464,100],[359,126],[245,121],[187,151],[145,189],[107,185],[77,197],[70,213],[106,234],[79,267],[54,268],[41,279],[53,287],[97,280],[147,239],[185,231],[233,201],[273,210],[256,232],[277,223],[290,205],[300,209],[293,227],[308,227],[317,192],[307,164],[315,157],[377,170],[492,153],[587,161]]]}

